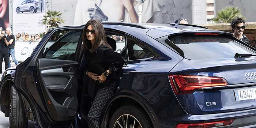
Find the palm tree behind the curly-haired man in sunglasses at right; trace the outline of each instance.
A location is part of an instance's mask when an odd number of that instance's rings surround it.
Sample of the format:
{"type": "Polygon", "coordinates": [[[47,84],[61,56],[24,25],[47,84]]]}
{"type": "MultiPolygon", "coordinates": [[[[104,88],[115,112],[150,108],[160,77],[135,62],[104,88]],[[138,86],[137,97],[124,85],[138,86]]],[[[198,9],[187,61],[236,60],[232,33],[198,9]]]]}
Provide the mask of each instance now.
{"type": "Polygon", "coordinates": [[[217,13],[217,17],[213,19],[216,23],[230,23],[230,21],[236,17],[245,19],[241,14],[241,10],[237,7],[224,7],[217,13]]]}

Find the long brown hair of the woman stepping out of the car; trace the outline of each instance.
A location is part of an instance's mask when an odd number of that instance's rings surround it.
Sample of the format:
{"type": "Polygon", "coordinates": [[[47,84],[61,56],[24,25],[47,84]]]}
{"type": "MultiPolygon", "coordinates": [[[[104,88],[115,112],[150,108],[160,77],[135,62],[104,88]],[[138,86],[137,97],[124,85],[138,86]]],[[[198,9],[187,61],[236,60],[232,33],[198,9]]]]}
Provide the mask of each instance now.
{"type": "Polygon", "coordinates": [[[101,22],[99,22],[99,20],[95,20],[95,19],[89,20],[84,26],[82,37],[83,37],[83,47],[86,51],[89,50],[90,52],[95,52],[98,46],[100,45],[106,45],[110,49],[112,49],[111,46],[106,41],[105,30],[101,22]],[[93,29],[95,31],[95,34],[94,34],[95,43],[93,46],[91,46],[91,41],[89,41],[86,37],[86,30],[89,25],[93,26],[93,29]]]}

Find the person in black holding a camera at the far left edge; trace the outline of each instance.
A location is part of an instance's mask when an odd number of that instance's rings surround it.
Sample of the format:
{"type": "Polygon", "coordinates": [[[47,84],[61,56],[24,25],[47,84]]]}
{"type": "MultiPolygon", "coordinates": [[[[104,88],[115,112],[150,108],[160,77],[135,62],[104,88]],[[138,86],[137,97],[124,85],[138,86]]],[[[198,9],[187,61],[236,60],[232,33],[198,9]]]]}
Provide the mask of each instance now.
{"type": "Polygon", "coordinates": [[[5,63],[5,69],[7,69],[9,67],[8,62],[9,62],[10,55],[9,55],[8,45],[9,45],[9,39],[6,38],[5,31],[1,30],[1,35],[0,35],[0,74],[2,74],[3,59],[4,59],[4,63],[5,63]]]}

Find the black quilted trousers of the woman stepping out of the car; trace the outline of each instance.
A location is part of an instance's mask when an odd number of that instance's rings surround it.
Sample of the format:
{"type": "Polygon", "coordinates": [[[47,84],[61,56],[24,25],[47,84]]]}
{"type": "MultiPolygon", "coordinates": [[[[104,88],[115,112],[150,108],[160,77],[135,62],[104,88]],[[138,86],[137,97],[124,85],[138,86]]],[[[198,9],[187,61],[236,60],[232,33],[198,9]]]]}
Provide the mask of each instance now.
{"type": "MultiPolygon", "coordinates": [[[[109,84],[115,85],[116,82],[108,82],[109,84]]],[[[95,83],[98,84],[98,83],[95,83]]],[[[96,86],[96,85],[94,85],[96,86]]],[[[88,113],[88,127],[89,128],[99,128],[99,118],[103,111],[106,102],[112,97],[116,91],[116,87],[101,86],[99,85],[99,90],[93,100],[91,108],[88,113]]]]}

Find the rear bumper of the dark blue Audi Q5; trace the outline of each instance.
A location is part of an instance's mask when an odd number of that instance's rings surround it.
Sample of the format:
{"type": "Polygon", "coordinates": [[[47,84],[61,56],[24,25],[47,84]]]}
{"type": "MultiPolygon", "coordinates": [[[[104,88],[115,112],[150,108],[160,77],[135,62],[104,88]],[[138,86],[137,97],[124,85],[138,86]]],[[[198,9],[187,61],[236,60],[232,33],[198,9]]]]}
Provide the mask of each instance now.
{"type": "Polygon", "coordinates": [[[185,112],[174,95],[148,97],[146,99],[150,103],[150,107],[153,108],[153,113],[155,113],[154,117],[161,128],[175,127],[177,124],[184,123],[206,123],[230,119],[234,119],[233,124],[225,126],[225,128],[237,128],[245,126],[245,128],[256,127],[256,109],[215,114],[191,115],[185,112]]]}

